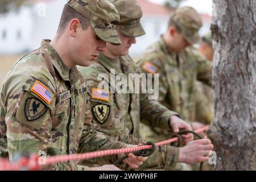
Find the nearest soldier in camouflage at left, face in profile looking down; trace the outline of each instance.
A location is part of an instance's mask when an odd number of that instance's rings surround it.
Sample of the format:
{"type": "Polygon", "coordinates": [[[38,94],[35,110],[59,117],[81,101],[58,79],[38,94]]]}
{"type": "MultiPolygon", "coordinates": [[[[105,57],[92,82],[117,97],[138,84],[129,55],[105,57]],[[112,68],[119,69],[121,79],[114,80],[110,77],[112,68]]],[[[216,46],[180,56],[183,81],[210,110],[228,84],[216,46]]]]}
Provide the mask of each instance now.
{"type": "MultiPolygon", "coordinates": [[[[92,122],[85,80],[76,65],[88,66],[106,42],[120,44],[119,15],[109,1],[75,1],[64,6],[55,38],[23,56],[1,85],[0,156],[76,154],[127,147],[98,131],[92,122]],[[68,45],[68,46],[67,46],[68,45]],[[95,146],[95,147],[94,147],[95,146]]],[[[108,164],[117,155],[101,158],[108,164]]],[[[137,157],[129,158],[134,164],[137,157]]],[[[47,170],[85,170],[63,162],[47,170]]],[[[113,165],[91,169],[118,169],[113,165]]]]}

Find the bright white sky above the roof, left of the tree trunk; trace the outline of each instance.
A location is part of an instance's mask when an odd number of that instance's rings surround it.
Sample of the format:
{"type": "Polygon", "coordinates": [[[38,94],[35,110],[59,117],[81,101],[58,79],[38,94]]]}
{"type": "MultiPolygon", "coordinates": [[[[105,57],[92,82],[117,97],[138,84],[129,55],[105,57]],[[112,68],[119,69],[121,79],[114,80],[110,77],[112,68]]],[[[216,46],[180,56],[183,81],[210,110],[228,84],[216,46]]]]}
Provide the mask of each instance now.
{"type": "MultiPolygon", "coordinates": [[[[150,0],[155,3],[163,3],[164,0],[150,0]]],[[[182,6],[192,6],[199,13],[212,15],[212,0],[186,0],[181,3],[182,6]]]]}

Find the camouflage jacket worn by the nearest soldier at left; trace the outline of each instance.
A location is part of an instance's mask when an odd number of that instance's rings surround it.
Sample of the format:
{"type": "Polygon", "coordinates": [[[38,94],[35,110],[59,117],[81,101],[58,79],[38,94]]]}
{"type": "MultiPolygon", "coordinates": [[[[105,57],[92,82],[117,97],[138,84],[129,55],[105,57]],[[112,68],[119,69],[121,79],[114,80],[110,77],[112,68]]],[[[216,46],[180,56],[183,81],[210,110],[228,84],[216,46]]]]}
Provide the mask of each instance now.
{"type": "MultiPolygon", "coordinates": [[[[0,151],[2,156],[8,152],[10,160],[15,152],[53,156],[76,154],[79,145],[82,152],[92,151],[102,142],[106,146],[102,149],[123,145],[114,145],[112,139],[98,133],[81,73],[76,67],[65,67],[49,40],[43,40],[39,49],[23,56],[11,69],[1,85],[0,109],[0,151]]],[[[44,167],[86,168],[71,162],[44,167]]]]}

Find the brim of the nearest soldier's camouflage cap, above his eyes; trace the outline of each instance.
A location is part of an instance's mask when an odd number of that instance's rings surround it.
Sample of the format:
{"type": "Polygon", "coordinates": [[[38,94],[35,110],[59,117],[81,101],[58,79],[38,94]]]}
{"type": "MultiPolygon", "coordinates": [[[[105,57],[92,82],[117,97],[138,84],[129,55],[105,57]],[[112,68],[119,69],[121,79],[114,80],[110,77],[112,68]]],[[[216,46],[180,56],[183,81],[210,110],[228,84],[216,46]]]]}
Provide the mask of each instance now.
{"type": "Polygon", "coordinates": [[[108,42],[110,44],[113,44],[115,46],[118,46],[122,44],[121,40],[118,37],[117,31],[115,31],[112,28],[102,28],[95,24],[94,22],[90,22],[90,24],[93,27],[93,30],[95,34],[100,38],[101,40],[104,40],[105,42],[108,42]]]}

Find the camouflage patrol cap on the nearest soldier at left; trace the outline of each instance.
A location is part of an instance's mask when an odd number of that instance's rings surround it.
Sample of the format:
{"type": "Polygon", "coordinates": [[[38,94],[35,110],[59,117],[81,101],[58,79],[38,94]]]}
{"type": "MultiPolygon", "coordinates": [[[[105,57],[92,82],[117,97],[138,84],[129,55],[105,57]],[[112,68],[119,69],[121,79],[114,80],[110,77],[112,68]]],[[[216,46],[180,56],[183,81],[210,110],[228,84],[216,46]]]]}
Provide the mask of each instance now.
{"type": "Polygon", "coordinates": [[[68,0],[68,5],[90,20],[95,34],[105,42],[119,45],[115,31],[119,14],[109,0],[68,0]]]}

